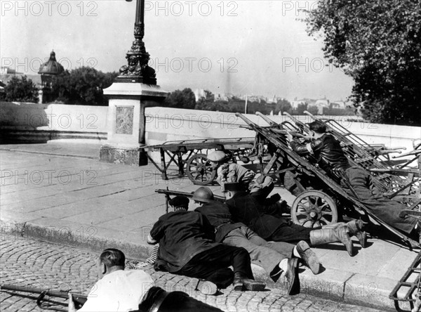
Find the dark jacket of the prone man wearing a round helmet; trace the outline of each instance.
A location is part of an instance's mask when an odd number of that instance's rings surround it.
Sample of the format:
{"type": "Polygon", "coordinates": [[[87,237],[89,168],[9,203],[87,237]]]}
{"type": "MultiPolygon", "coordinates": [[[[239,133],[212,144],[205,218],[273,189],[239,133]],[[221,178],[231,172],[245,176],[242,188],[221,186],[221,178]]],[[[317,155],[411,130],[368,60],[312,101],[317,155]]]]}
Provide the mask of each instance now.
{"type": "Polygon", "coordinates": [[[232,221],[232,215],[231,212],[229,212],[229,207],[227,204],[222,202],[206,202],[194,211],[200,212],[203,216],[206,216],[206,219],[209,220],[210,224],[215,227],[216,242],[222,242],[229,232],[235,230],[236,228],[240,228],[241,226],[245,226],[243,223],[234,223],[232,221]]]}

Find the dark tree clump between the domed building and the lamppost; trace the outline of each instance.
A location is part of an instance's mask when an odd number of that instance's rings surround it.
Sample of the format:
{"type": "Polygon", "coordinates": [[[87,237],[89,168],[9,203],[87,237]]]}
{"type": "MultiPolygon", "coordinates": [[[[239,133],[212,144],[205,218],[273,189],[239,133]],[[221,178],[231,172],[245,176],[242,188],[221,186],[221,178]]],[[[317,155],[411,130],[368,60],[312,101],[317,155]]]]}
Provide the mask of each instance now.
{"type": "Polygon", "coordinates": [[[92,67],[80,67],[54,77],[51,93],[53,98],[66,104],[108,105],[103,89],[117,77],[116,72],[100,72],[92,67]]]}

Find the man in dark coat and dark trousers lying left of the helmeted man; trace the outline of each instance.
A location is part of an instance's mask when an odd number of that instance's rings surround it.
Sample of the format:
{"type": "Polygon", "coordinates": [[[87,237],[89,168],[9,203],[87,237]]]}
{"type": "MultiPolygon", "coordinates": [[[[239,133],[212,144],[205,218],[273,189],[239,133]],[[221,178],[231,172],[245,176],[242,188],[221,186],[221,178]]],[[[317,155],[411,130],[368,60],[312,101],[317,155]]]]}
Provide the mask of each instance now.
{"type": "MultiPolygon", "coordinates": [[[[184,199],[175,197],[175,200],[184,199]]],[[[174,202],[170,204],[178,206],[174,202]]],[[[215,228],[208,219],[199,212],[186,210],[187,207],[168,212],[154,224],[148,242],[159,242],[155,268],[201,278],[218,288],[226,288],[233,283],[234,290],[264,290],[265,283],[253,278],[246,249],[215,242],[215,228]],[[234,268],[234,273],[229,266],[234,268]]],[[[216,287],[210,287],[213,294],[216,287]]]]}

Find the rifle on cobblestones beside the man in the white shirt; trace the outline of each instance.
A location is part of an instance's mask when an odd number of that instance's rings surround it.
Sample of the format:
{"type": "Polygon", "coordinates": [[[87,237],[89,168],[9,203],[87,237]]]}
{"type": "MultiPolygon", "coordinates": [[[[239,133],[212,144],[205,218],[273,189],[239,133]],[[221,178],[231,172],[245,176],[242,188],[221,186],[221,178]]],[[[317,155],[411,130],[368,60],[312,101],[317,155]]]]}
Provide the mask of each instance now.
{"type": "MultiPolygon", "coordinates": [[[[52,305],[43,305],[43,300],[44,297],[49,296],[49,297],[56,297],[56,298],[64,298],[64,299],[68,299],[69,298],[69,292],[68,291],[54,291],[54,290],[41,290],[40,288],[36,288],[36,287],[20,287],[17,285],[0,285],[0,290],[11,290],[13,292],[31,292],[33,294],[39,294],[39,297],[36,299],[36,305],[39,306],[40,308],[44,308],[46,310],[54,310],[54,311],[65,311],[67,312],[67,308],[51,308],[52,305]]],[[[83,294],[72,294],[73,297],[73,301],[74,301],[74,305],[76,309],[79,309],[83,306],[83,304],[85,304],[86,300],[88,299],[87,296],[84,296],[83,294]]],[[[59,301],[53,301],[51,299],[45,299],[45,301],[50,301],[53,302],[55,305],[60,305],[60,306],[66,306],[67,304],[63,303],[63,302],[59,302],[59,301]]]]}

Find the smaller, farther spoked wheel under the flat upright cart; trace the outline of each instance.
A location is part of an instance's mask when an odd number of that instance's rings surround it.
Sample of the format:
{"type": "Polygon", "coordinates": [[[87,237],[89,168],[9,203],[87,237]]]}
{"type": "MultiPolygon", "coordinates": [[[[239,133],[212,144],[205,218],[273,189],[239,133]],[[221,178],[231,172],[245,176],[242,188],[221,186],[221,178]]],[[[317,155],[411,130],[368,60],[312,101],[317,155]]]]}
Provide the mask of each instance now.
{"type": "Polygon", "coordinates": [[[186,171],[190,181],[199,186],[206,186],[216,176],[216,170],[213,170],[212,164],[204,154],[196,154],[190,157],[187,160],[186,171]]]}

